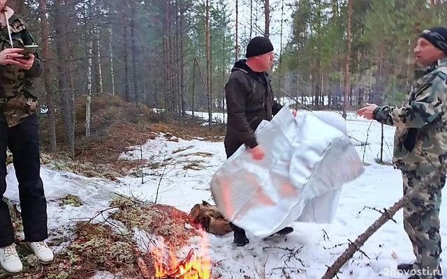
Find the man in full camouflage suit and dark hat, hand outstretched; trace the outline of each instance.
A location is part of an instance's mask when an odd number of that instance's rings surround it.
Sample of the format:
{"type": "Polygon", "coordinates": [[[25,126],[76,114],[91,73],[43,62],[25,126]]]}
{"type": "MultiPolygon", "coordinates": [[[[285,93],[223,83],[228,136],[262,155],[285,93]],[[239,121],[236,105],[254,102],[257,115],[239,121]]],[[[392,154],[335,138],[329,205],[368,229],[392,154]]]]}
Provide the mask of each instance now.
{"type": "Polygon", "coordinates": [[[446,183],[447,28],[423,31],[414,54],[427,68],[413,84],[407,105],[367,104],[358,114],[396,127],[393,164],[402,172],[404,195],[419,187],[404,206],[404,229],[416,262],[397,268],[411,273],[409,279],[442,278],[439,207],[446,183]]]}

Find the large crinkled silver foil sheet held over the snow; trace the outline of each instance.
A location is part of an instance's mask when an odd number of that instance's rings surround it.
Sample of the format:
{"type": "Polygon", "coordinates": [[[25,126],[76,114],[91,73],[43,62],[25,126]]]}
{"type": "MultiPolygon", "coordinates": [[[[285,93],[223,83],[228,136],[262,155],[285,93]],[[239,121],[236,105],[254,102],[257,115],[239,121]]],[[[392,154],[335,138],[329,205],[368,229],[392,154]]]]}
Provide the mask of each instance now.
{"type": "Polygon", "coordinates": [[[223,216],[258,237],[294,221],[331,223],[342,186],[363,172],[342,116],[294,117],[284,107],[255,135],[263,160],[254,160],[242,145],[212,178],[212,197],[223,216]]]}

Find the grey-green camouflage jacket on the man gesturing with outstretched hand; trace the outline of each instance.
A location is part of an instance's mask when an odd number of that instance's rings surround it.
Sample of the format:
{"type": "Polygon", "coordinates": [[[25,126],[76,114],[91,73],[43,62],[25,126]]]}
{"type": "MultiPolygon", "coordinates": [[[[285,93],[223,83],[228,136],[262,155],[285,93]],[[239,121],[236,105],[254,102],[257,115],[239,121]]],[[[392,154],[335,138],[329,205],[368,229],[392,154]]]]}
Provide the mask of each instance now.
{"type": "Polygon", "coordinates": [[[395,126],[393,165],[404,171],[446,166],[447,58],[414,82],[404,107],[380,106],[373,119],[395,126]]]}

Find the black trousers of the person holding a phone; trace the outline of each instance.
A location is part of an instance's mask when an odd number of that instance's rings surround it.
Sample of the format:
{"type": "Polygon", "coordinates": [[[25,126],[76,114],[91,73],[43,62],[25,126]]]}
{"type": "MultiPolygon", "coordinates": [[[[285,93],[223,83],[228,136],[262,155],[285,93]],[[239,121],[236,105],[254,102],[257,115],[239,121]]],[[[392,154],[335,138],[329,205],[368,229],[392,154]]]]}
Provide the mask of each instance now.
{"type": "MultiPolygon", "coordinates": [[[[47,201],[40,176],[38,118],[29,116],[11,128],[0,121],[0,196],[6,192],[6,147],[13,153],[15,174],[19,183],[20,208],[26,241],[47,239],[47,201]]],[[[13,225],[8,205],[0,200],[0,247],[14,242],[13,225]]]]}

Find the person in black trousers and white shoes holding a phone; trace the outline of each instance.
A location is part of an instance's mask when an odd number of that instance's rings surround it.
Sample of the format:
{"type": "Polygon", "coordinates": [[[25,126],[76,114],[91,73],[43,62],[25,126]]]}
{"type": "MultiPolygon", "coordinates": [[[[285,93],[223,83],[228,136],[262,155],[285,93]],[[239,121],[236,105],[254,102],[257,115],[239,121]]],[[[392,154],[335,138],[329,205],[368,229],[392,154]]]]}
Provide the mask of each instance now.
{"type": "MultiPolygon", "coordinates": [[[[0,0],[0,23],[0,195],[6,192],[8,147],[19,183],[25,243],[42,264],[50,264],[53,252],[44,242],[47,202],[40,176],[38,99],[32,86],[43,74],[43,65],[36,53],[25,49],[34,40],[6,0],[0,0]]],[[[23,269],[14,240],[8,204],[0,198],[0,266],[13,275],[23,269]]]]}

